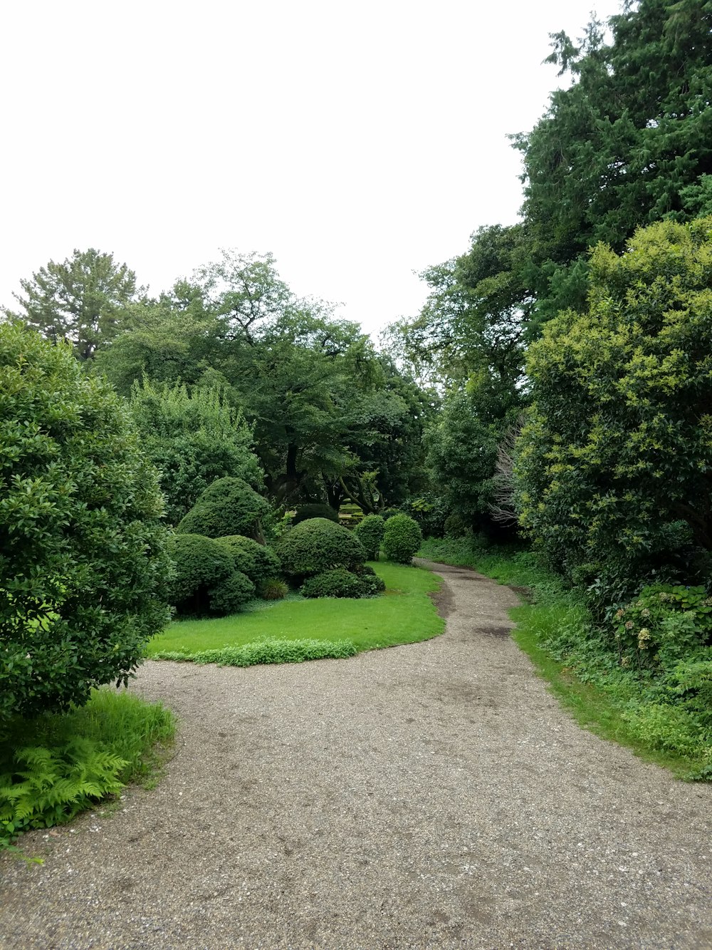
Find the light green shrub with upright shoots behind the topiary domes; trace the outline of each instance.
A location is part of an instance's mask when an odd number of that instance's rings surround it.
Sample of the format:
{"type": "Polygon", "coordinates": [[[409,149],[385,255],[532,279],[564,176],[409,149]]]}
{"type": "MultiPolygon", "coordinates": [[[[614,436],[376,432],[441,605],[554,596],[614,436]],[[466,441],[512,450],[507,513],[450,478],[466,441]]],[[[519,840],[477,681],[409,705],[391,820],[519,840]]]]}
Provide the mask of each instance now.
{"type": "Polygon", "coordinates": [[[131,414],[143,450],[159,469],[169,523],[177,524],[216,479],[261,485],[252,431],[223,388],[188,390],[144,378],[131,390],[131,414]]]}

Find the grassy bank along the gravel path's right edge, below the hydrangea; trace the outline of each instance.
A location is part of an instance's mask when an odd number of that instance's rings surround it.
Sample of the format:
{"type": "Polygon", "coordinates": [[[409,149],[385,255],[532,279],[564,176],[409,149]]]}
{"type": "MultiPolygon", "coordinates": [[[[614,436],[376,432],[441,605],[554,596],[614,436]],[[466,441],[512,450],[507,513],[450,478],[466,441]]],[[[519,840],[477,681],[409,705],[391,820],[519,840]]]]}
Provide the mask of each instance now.
{"type": "Polygon", "coordinates": [[[583,598],[533,554],[492,550],[472,539],[430,539],[420,555],[526,588],[531,602],[511,612],[513,636],[576,721],[680,778],[712,779],[712,734],[696,709],[699,695],[676,693],[662,676],[622,668],[609,632],[595,626],[583,598]]]}

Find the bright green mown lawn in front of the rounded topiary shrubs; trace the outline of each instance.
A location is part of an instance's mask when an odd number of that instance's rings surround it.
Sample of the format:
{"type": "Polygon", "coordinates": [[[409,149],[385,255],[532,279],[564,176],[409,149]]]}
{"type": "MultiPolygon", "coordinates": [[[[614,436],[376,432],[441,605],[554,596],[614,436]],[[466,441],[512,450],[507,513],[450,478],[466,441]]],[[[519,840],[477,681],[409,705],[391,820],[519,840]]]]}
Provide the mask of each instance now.
{"type": "Polygon", "coordinates": [[[256,609],[208,620],[180,620],[149,642],[146,656],[239,647],[264,639],[350,640],[358,651],[437,637],[444,620],[428,593],[440,578],[422,567],[371,561],[385,581],[377,598],[287,599],[262,602],[256,609]]]}

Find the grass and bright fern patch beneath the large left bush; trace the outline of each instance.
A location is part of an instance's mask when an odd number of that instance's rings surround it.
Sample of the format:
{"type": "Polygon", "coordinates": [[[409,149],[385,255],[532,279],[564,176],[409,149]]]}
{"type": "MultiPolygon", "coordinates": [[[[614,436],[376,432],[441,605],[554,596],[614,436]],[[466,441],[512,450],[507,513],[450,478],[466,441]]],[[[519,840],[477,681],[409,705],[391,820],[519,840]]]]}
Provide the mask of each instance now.
{"type": "Polygon", "coordinates": [[[160,703],[112,688],[62,714],[18,719],[0,742],[0,849],[62,825],[129,783],[152,786],[176,722],[160,703]]]}

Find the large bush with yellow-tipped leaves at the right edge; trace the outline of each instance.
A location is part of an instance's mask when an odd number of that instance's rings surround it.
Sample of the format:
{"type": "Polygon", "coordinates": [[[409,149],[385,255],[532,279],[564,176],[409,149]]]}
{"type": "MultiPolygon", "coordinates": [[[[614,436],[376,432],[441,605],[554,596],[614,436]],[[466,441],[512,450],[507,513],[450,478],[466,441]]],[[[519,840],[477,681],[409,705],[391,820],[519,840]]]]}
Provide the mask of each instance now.
{"type": "Polygon", "coordinates": [[[712,218],[639,231],[590,259],[586,314],[529,355],[521,523],[599,610],[643,580],[709,574],[712,218]]]}

